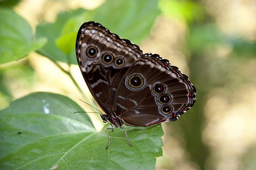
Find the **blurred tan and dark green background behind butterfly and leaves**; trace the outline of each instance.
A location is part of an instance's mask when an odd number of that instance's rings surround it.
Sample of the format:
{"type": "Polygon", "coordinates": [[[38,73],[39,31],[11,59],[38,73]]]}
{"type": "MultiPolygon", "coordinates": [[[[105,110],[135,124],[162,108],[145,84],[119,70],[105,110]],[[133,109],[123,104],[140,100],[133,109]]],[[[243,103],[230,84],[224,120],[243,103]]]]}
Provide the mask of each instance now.
{"type": "MultiPolygon", "coordinates": [[[[42,21],[53,23],[62,11],[93,10],[105,1],[17,2],[15,12],[35,31],[42,21]]],[[[163,124],[163,156],[156,168],[256,169],[256,1],[157,3],[160,14],[150,36],[138,45],[144,53],[158,53],[187,74],[196,87],[197,100],[179,121],[163,124]]],[[[136,3],[127,10],[133,7],[136,3]]],[[[68,76],[35,52],[1,65],[0,71],[0,109],[35,91],[63,94],[83,107],[79,103],[83,97],[68,76]]],[[[89,95],[78,66],[72,65],[71,72],[89,95]]]]}

